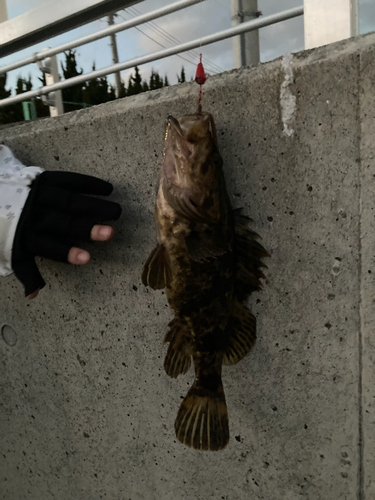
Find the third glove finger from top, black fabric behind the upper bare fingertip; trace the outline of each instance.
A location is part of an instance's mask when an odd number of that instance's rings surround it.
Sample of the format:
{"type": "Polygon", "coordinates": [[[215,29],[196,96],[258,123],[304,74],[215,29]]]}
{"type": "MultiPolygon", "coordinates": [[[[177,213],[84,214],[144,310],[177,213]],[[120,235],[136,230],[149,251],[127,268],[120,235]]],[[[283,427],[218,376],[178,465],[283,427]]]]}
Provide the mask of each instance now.
{"type": "Polygon", "coordinates": [[[91,230],[96,224],[90,217],[79,217],[55,210],[36,211],[34,221],[35,232],[70,241],[90,241],[91,230]]]}

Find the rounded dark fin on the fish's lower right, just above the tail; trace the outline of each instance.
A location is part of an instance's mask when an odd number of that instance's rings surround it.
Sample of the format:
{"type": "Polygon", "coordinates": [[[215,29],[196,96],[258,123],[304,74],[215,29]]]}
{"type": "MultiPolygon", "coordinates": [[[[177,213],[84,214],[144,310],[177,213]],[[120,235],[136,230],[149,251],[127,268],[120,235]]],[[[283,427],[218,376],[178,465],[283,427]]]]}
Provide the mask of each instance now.
{"type": "Polygon", "coordinates": [[[245,305],[235,301],[232,318],[228,324],[231,329],[229,343],[223,357],[223,365],[235,365],[255,344],[256,319],[245,305]]]}

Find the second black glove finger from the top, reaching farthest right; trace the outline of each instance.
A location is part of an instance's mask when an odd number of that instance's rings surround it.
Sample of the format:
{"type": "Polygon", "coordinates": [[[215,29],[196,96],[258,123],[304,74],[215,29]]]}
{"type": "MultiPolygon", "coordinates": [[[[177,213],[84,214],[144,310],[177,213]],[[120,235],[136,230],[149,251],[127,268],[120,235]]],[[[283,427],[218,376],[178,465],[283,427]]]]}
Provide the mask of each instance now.
{"type": "Polygon", "coordinates": [[[98,221],[117,220],[121,215],[121,207],[118,203],[71,193],[56,187],[41,189],[36,205],[39,208],[53,208],[61,212],[87,216],[98,221]]]}

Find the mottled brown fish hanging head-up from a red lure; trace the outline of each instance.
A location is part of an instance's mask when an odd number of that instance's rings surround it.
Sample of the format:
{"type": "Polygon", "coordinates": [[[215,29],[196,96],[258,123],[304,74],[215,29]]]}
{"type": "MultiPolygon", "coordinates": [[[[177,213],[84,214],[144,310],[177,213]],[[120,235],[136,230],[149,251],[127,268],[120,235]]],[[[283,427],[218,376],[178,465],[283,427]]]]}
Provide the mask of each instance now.
{"type": "Polygon", "coordinates": [[[256,339],[256,319],[246,306],[262,288],[268,252],[233,210],[212,115],[168,116],[159,172],[157,245],[143,266],[142,283],[166,290],[174,318],[164,339],[166,373],[176,378],[193,361],[194,383],[175,421],[177,439],[197,450],[218,451],[229,442],[222,366],[238,363],[256,339]]]}

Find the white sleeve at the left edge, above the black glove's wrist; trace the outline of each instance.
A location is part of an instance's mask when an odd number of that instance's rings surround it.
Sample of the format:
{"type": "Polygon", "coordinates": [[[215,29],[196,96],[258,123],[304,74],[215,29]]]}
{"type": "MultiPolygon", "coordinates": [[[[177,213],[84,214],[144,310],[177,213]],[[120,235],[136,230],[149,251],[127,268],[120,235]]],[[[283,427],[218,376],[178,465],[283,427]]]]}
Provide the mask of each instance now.
{"type": "Polygon", "coordinates": [[[25,167],[7,146],[0,145],[0,276],[12,271],[12,248],[18,220],[31,182],[43,169],[25,167]]]}

